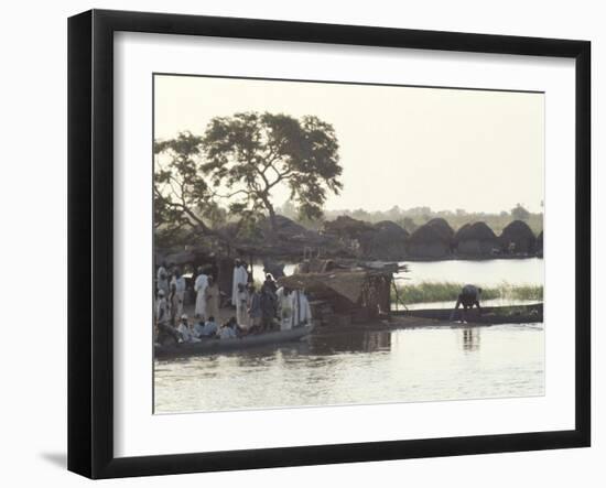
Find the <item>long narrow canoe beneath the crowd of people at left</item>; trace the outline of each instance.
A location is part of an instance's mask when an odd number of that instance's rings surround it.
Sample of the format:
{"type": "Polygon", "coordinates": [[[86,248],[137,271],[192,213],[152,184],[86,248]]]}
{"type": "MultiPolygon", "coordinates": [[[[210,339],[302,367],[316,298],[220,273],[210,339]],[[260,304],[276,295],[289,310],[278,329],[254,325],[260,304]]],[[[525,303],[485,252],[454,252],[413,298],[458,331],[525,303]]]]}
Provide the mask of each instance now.
{"type": "Polygon", "coordinates": [[[175,356],[194,356],[201,354],[214,354],[229,350],[249,349],[253,347],[273,346],[290,341],[301,340],[314,329],[313,325],[294,327],[290,330],[275,330],[262,334],[251,334],[232,339],[207,338],[199,343],[182,343],[171,346],[154,346],[154,356],[158,359],[175,356]]]}

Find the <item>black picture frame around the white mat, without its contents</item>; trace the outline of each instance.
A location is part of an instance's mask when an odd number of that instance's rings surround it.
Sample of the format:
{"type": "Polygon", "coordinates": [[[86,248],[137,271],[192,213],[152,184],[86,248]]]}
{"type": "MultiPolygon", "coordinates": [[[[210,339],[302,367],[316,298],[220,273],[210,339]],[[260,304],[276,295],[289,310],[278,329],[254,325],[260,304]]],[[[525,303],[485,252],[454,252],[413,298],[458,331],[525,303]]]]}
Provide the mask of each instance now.
{"type": "Polygon", "coordinates": [[[591,444],[591,43],[91,10],[68,20],[68,469],[90,478],[584,447],[591,444]],[[113,455],[113,33],[575,59],[575,429],[117,458],[113,455]]]}

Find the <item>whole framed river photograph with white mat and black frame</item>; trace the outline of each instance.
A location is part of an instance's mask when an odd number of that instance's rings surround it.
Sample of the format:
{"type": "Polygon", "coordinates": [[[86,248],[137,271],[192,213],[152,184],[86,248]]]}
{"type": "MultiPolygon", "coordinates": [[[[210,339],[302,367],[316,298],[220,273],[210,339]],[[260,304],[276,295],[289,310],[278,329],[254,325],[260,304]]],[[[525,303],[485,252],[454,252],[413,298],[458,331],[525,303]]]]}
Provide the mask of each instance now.
{"type": "Polygon", "coordinates": [[[586,41],[68,22],[68,468],[584,447],[586,41]]]}

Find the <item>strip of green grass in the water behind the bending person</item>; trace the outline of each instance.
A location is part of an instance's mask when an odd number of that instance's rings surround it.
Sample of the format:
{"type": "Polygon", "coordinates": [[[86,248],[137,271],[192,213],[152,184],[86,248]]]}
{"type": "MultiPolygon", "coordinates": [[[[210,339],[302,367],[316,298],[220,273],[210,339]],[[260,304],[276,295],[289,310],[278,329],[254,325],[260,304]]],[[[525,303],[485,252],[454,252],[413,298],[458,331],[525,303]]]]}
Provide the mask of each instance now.
{"type": "MultiPolygon", "coordinates": [[[[418,284],[398,285],[398,294],[401,302],[425,303],[425,302],[455,302],[464,283],[425,281],[418,284]]],[[[392,292],[392,300],[396,293],[392,292]]],[[[542,285],[512,285],[501,283],[498,286],[481,288],[483,300],[543,300],[542,285]]]]}

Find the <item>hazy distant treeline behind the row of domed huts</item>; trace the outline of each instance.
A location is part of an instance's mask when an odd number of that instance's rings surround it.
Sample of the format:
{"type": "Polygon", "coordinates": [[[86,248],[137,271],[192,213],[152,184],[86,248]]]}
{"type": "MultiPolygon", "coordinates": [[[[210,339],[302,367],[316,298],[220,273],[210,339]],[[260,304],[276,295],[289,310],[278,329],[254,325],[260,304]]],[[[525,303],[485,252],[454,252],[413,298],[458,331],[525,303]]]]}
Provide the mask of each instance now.
{"type": "MultiPolygon", "coordinates": [[[[297,218],[296,208],[290,202],[285,203],[278,209],[278,213],[284,217],[289,217],[294,221],[303,225],[309,229],[322,228],[322,220],[300,220],[297,218]]],[[[465,224],[474,221],[484,221],[490,227],[495,234],[500,234],[502,229],[511,223],[511,220],[523,220],[534,235],[539,235],[543,230],[543,213],[533,214],[528,212],[523,206],[517,205],[509,212],[500,212],[490,214],[484,212],[466,212],[458,209],[451,210],[432,210],[431,207],[414,207],[402,209],[398,206],[383,212],[367,212],[364,209],[357,210],[325,210],[324,220],[334,220],[336,217],[346,215],[357,220],[364,220],[370,224],[376,224],[383,220],[391,220],[400,227],[407,229],[409,234],[414,232],[419,227],[434,218],[443,218],[456,231],[465,224]]]]}

